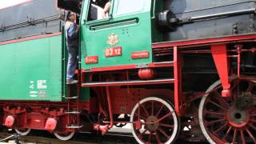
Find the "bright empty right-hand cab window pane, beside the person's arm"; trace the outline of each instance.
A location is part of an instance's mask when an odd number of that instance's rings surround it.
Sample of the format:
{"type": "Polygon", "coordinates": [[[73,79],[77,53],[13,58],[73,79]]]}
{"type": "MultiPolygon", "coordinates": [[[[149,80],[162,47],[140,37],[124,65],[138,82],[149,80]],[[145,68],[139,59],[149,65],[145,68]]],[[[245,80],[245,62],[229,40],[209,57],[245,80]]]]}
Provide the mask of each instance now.
{"type": "Polygon", "coordinates": [[[118,0],[116,15],[131,14],[144,9],[145,0],[118,0]]]}

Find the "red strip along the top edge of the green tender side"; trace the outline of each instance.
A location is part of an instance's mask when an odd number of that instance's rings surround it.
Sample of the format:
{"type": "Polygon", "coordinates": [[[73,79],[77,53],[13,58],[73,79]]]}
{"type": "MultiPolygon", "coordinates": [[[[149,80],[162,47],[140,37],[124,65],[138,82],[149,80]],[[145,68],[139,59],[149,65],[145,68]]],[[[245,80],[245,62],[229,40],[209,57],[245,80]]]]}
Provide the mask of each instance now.
{"type": "Polygon", "coordinates": [[[42,35],[37,35],[37,36],[32,36],[32,37],[27,37],[27,38],[21,38],[21,39],[15,39],[11,41],[6,41],[6,42],[0,42],[0,45],[6,45],[10,43],[15,43],[15,42],[24,42],[24,41],[29,41],[33,39],[39,39],[39,38],[47,38],[47,37],[54,37],[57,35],[61,35],[61,32],[58,33],[53,33],[53,34],[42,34],[42,35]]]}

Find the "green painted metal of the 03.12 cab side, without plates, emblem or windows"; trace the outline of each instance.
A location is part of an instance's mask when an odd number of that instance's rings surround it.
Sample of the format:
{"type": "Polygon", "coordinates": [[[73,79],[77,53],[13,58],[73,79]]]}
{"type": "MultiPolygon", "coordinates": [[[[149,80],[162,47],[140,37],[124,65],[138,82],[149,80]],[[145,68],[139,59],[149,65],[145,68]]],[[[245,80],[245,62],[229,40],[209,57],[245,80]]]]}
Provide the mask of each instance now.
{"type": "Polygon", "coordinates": [[[152,62],[150,2],[145,2],[141,11],[122,15],[117,14],[118,0],[111,2],[114,2],[113,18],[86,22],[90,1],[84,1],[81,19],[82,69],[152,62]],[[107,42],[111,34],[118,36],[115,45],[107,42]],[[105,49],[115,46],[122,46],[122,56],[106,58],[105,49]],[[137,51],[149,51],[150,57],[132,59],[131,53],[137,51]],[[86,64],[84,59],[88,56],[98,56],[98,63],[86,64]]]}

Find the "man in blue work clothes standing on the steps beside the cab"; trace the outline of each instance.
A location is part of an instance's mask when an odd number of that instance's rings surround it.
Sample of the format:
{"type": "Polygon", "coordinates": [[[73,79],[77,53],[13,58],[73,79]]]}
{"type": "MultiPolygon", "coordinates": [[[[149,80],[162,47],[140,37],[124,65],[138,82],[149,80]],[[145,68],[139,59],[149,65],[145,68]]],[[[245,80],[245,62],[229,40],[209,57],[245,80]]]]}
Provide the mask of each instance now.
{"type": "Polygon", "coordinates": [[[76,14],[68,12],[66,15],[65,31],[66,31],[66,46],[69,54],[66,66],[66,84],[78,83],[74,79],[74,70],[78,65],[78,30],[80,26],[76,23],[76,14]]]}

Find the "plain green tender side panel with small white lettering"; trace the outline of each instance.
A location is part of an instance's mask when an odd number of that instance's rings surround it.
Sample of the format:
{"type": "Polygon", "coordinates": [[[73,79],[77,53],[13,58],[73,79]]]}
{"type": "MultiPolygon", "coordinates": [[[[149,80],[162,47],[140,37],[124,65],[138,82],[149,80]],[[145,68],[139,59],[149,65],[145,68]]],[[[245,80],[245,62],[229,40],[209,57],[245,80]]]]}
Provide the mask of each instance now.
{"type": "Polygon", "coordinates": [[[0,99],[62,101],[62,35],[0,46],[0,99]]]}

